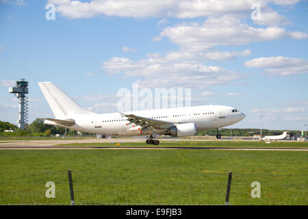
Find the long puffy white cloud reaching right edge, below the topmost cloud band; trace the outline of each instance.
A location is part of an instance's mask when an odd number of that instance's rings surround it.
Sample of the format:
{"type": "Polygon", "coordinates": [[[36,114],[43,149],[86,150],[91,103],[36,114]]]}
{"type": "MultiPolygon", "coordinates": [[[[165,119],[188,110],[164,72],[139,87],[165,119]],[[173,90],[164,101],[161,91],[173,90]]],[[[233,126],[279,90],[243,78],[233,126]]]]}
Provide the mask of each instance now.
{"type": "Polygon", "coordinates": [[[218,45],[242,45],[280,38],[308,38],[308,34],[286,31],[281,27],[255,28],[242,23],[240,18],[224,15],[209,17],[201,25],[183,23],[175,27],[166,27],[155,39],[163,37],[169,38],[185,50],[205,51],[218,45]]]}

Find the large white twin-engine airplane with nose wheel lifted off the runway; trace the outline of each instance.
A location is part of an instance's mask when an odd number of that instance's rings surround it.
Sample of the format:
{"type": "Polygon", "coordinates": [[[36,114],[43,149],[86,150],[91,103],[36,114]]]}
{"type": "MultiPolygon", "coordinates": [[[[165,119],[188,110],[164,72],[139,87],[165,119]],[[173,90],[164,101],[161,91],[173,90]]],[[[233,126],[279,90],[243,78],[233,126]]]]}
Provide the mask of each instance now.
{"type": "Polygon", "coordinates": [[[84,110],[52,82],[39,82],[55,118],[43,118],[47,125],[108,136],[149,136],[147,144],[159,144],[157,134],[194,136],[197,130],[217,129],[238,123],[245,114],[233,107],[201,105],[162,110],[140,110],[96,114],[84,110]]]}

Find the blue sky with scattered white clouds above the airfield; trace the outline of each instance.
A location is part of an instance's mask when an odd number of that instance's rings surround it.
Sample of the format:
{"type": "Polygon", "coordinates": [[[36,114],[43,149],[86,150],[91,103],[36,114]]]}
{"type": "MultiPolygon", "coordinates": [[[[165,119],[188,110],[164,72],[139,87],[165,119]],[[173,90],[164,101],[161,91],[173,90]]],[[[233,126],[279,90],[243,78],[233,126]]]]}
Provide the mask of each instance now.
{"type": "MultiPolygon", "coordinates": [[[[0,0],[0,120],[29,81],[29,123],[53,117],[53,81],[85,109],[116,112],[118,92],[190,89],[191,105],[246,114],[233,128],[308,123],[308,1],[0,0]]],[[[142,98],[140,98],[142,99],[142,98]]]]}

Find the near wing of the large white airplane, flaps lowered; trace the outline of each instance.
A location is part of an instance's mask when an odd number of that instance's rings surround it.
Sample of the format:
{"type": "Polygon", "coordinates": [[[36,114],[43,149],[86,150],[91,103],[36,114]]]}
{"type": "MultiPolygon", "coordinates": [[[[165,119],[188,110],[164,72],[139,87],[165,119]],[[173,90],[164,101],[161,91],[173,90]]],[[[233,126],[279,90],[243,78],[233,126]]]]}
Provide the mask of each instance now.
{"type": "Polygon", "coordinates": [[[142,116],[136,116],[134,114],[123,114],[121,112],[119,112],[122,116],[125,116],[127,118],[127,120],[129,120],[129,124],[133,123],[136,126],[140,126],[141,129],[140,131],[155,131],[155,132],[159,132],[159,131],[164,131],[170,127],[173,126],[172,123],[168,123],[166,121],[162,121],[162,120],[157,120],[157,119],[153,119],[153,118],[146,118],[146,117],[142,117],[142,116]]]}

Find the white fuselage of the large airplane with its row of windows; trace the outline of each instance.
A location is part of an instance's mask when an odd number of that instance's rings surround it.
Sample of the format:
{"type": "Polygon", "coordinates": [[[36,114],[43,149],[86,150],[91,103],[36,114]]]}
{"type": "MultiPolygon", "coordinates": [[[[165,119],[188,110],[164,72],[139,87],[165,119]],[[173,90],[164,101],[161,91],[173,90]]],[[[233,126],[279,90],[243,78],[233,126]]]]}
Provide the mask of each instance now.
{"type": "MultiPolygon", "coordinates": [[[[245,115],[233,107],[222,105],[202,105],[194,107],[179,107],[161,110],[142,110],[125,112],[157,121],[166,121],[173,124],[194,123],[197,130],[216,129],[238,123],[245,115]]],[[[125,116],[120,113],[72,115],[68,118],[75,120],[75,125],[69,127],[76,131],[116,136],[148,135],[140,131],[138,125],[129,124],[125,116]]],[[[64,127],[64,126],[63,126],[64,127]]]]}

